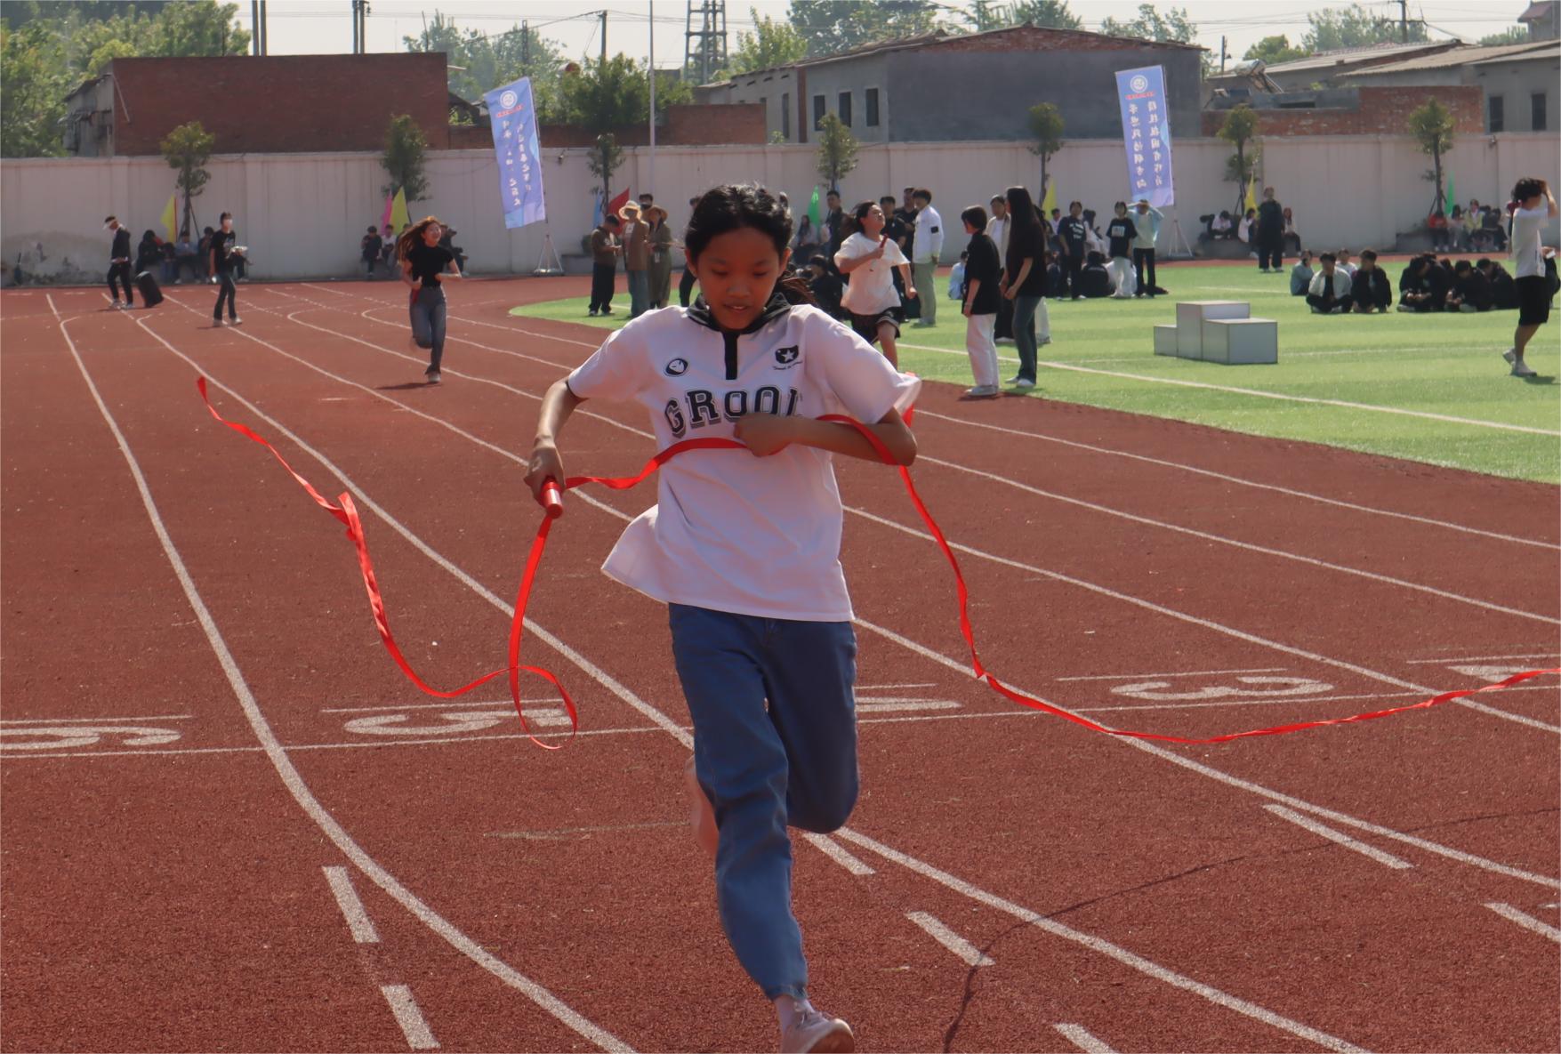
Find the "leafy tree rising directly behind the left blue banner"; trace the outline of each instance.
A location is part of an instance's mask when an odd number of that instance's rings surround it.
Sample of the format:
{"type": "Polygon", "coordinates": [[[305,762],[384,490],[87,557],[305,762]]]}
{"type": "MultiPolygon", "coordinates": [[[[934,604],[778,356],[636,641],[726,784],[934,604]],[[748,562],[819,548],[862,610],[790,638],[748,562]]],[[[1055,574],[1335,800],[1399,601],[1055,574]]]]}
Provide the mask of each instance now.
{"type": "Polygon", "coordinates": [[[531,78],[531,97],[543,120],[556,120],[564,52],[529,27],[504,33],[462,30],[434,12],[418,36],[403,37],[407,52],[443,52],[450,62],[448,87],[468,101],[521,77],[531,78]]]}

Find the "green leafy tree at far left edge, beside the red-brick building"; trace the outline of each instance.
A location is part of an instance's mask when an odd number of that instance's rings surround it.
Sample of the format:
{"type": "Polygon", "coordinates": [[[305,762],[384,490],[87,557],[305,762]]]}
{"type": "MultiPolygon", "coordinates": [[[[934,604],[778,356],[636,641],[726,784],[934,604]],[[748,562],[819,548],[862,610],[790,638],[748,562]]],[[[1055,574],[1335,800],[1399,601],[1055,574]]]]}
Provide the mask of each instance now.
{"type": "Polygon", "coordinates": [[[70,73],[59,37],[33,22],[0,20],[0,156],[45,158],[66,151],[61,123],[70,73]]]}

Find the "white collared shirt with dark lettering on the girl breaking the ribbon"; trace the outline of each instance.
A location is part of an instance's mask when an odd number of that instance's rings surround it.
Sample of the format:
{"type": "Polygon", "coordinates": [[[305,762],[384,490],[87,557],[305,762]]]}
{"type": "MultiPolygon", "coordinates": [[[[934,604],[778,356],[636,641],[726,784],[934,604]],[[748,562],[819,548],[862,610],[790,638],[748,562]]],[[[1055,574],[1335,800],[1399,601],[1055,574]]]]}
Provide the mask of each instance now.
{"type": "MultiPolygon", "coordinates": [[[[659,450],[690,437],[731,439],[745,412],[879,422],[921,390],[919,379],[896,373],[816,308],[766,312],[756,331],[735,337],[692,314],[640,315],[570,375],[570,390],[640,403],[659,450]]],[[[830,453],[692,450],[662,467],[656,497],[603,564],[610,578],[673,604],[799,621],[852,618],[830,453]]]]}

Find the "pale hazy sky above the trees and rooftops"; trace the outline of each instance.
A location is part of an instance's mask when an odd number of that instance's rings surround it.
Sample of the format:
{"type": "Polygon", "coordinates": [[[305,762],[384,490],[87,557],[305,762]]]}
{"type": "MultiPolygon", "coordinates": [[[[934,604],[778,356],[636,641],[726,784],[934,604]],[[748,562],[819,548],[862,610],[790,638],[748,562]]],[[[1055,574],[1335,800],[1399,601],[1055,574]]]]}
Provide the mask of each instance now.
{"type": "MultiPolygon", "coordinates": [[[[239,20],[250,28],[250,3],[237,0],[239,20]]],[[[1074,0],[1069,6],[1085,19],[1085,28],[1099,28],[1105,17],[1130,19],[1138,12],[1140,0],[1074,0]],[[1088,14],[1085,14],[1088,11],[1088,14]]],[[[1347,0],[1339,0],[1344,6],[1347,0]]],[[[565,55],[596,55],[601,48],[601,20],[596,12],[607,6],[607,50],[624,52],[635,59],[648,58],[651,47],[651,11],[656,14],[656,66],[677,67],[684,58],[684,16],[687,0],[448,0],[448,3],[423,3],[421,0],[370,0],[368,50],[401,52],[403,37],[417,36],[423,20],[436,11],[454,19],[457,25],[487,33],[503,33],[512,25],[529,20],[542,34],[564,45],[565,55]]],[[[749,9],[760,17],[785,19],[788,0],[727,0],[729,45],[737,34],[752,27],[749,9]]],[[[948,8],[969,8],[966,0],[944,0],[948,8]]],[[[1180,0],[1171,6],[1185,8],[1197,25],[1197,42],[1219,55],[1221,36],[1233,59],[1239,59],[1258,39],[1285,33],[1291,44],[1307,31],[1307,12],[1325,3],[1302,5],[1294,0],[1180,0]]],[[[1399,17],[1397,0],[1364,3],[1367,9],[1385,17],[1399,17]]],[[[1410,3],[1410,17],[1422,17],[1431,27],[1431,37],[1456,36],[1477,41],[1491,33],[1500,33],[1516,23],[1528,6],[1527,0],[1495,0],[1480,5],[1464,3],[1410,3]]],[[[353,50],[351,5],[348,0],[268,0],[267,33],[272,55],[347,53],[353,50]]]]}

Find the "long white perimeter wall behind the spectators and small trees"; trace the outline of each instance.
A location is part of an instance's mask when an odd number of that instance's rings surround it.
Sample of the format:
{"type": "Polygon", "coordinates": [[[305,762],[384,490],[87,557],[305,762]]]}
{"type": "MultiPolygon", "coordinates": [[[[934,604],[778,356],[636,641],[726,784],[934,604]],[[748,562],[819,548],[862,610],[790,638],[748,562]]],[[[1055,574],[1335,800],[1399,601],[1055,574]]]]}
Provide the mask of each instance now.
{"type": "MultiPolygon", "coordinates": [[[[1230,148],[1216,139],[1175,147],[1179,217],[1188,239],[1197,217],[1235,206],[1235,186],[1222,181],[1230,148]]],[[[816,180],[812,145],[674,147],[628,151],[615,180],[635,194],[651,189],[673,214],[687,219],[687,201],[721,181],[754,180],[785,191],[793,209],[805,209],[816,180]]],[[[1421,178],[1428,158],[1406,137],[1321,136],[1263,141],[1263,178],[1291,206],[1296,226],[1313,248],[1392,247],[1414,230],[1430,203],[1421,178]]],[[[593,178],[581,150],[543,151],[549,220],[506,231],[498,209],[498,176],[490,151],[439,153],[428,162],[432,195],[412,205],[414,219],[437,214],[459,230],[476,273],[529,273],[543,236],[551,231],[560,253],[578,255],[590,230],[593,178]]],[[[1555,134],[1467,136],[1447,158],[1458,197],[1505,200],[1522,175],[1558,180],[1561,137],[1555,134]]],[[[250,245],[253,273],[268,278],[351,275],[357,240],[384,209],[384,170],[376,155],[226,155],[209,162],[211,183],[197,198],[201,226],[223,209],[236,217],[250,245]]],[[[1052,159],[1058,194],[1077,197],[1102,215],[1125,195],[1125,161],[1118,142],[1068,144],[1052,159]]],[[[863,147],[855,172],[841,183],[848,206],[905,186],[926,186],[957,230],[958,211],[1005,186],[1040,183],[1038,159],[1022,144],[888,144],[863,147]]],[[[173,173],[159,158],[27,159],[0,164],[0,259],[9,278],[20,262],[30,275],[58,280],[97,276],[106,270],[108,234],[101,220],[116,214],[139,240],[156,230],[172,192],[173,173]]],[[[1168,225],[1169,226],[1169,225],[1168,225]]],[[[159,231],[161,234],[161,231],[159,231]]],[[[1552,225],[1547,240],[1553,244],[1552,225]]],[[[963,240],[951,234],[944,259],[963,240]]],[[[1161,233],[1161,253],[1172,251],[1161,233]]]]}

